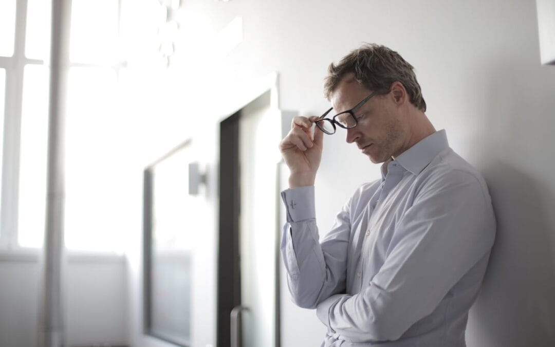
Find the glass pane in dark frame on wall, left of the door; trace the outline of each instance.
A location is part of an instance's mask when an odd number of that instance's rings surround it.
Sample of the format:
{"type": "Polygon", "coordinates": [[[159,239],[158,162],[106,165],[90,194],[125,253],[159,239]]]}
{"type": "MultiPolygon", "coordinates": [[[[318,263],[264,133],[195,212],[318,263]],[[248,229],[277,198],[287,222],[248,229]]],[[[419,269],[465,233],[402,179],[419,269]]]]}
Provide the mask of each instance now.
{"type": "Polygon", "coordinates": [[[190,213],[198,215],[199,203],[188,193],[189,162],[185,147],[158,163],[151,195],[149,333],[183,346],[191,345],[193,230],[202,230],[196,218],[191,220],[190,213]]]}

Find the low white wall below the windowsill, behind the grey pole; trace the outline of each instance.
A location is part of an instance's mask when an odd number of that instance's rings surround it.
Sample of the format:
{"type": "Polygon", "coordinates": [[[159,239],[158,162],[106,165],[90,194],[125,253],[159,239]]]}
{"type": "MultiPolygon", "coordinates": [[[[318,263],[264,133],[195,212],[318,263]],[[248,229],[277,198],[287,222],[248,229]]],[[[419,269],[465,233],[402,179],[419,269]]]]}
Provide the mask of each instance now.
{"type": "MultiPolygon", "coordinates": [[[[40,278],[38,255],[0,257],[0,346],[37,345],[40,278]]],[[[127,345],[127,283],[122,256],[69,256],[64,324],[68,346],[127,345]]]]}

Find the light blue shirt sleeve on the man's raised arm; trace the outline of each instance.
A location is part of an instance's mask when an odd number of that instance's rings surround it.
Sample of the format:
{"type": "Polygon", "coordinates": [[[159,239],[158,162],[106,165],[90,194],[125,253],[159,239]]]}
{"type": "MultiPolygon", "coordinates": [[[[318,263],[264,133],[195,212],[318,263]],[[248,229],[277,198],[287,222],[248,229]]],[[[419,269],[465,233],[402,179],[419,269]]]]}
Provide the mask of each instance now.
{"type": "Polygon", "coordinates": [[[281,197],[287,213],[280,247],[287,285],[295,304],[313,309],[330,295],[345,292],[349,203],[337,214],[334,227],[320,244],[314,186],[287,189],[281,197]]]}

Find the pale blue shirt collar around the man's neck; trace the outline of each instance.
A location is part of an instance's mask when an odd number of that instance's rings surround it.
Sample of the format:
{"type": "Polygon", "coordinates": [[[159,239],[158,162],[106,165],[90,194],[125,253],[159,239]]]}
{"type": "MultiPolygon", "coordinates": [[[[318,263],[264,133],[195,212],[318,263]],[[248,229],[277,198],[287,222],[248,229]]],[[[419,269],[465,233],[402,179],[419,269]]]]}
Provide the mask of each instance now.
{"type": "MultiPolygon", "coordinates": [[[[445,129],[439,130],[401,153],[395,161],[414,175],[419,174],[443,149],[449,147],[445,129]]],[[[388,164],[385,162],[384,164],[388,164]]]]}

